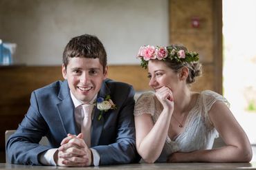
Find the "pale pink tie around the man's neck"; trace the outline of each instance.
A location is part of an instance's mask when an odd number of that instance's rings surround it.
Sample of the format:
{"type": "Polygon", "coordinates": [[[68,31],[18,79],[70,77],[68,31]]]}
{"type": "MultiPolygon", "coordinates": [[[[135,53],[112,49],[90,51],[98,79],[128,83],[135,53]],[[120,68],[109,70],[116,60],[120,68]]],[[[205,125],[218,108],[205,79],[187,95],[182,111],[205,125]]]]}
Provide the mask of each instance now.
{"type": "Polygon", "coordinates": [[[93,105],[82,105],[84,111],[84,120],[81,125],[81,132],[84,134],[84,142],[91,147],[91,112],[93,105]]]}

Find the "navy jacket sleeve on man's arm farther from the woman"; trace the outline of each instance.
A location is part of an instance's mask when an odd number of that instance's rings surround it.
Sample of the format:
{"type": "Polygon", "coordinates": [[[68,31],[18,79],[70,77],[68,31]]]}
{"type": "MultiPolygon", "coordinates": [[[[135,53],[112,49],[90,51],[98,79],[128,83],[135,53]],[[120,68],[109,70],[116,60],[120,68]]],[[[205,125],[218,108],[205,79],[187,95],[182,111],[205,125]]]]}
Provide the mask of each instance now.
{"type": "Polygon", "coordinates": [[[41,165],[39,154],[50,149],[48,146],[39,145],[39,141],[46,135],[46,129],[48,127],[42,115],[39,114],[37,98],[33,92],[30,98],[30,107],[24,120],[6,143],[8,162],[41,165]]]}

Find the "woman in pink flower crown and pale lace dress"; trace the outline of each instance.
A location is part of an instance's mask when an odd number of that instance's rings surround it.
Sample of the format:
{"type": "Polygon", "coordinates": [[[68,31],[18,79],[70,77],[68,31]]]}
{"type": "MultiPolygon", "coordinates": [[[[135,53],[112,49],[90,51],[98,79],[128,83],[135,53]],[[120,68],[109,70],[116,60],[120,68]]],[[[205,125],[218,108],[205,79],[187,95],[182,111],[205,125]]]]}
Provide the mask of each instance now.
{"type": "Polygon", "coordinates": [[[223,96],[190,91],[199,55],[183,45],[140,47],[153,92],[136,101],[136,147],[145,162],[250,162],[252,149],[223,96]],[[226,146],[212,149],[221,136],[226,146]]]}

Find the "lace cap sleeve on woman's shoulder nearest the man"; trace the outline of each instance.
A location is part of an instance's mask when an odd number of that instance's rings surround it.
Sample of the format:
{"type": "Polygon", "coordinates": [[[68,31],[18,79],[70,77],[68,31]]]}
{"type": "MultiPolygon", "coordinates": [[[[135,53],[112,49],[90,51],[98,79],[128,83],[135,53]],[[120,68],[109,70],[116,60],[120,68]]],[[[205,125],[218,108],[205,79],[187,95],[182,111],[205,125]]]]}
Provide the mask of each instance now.
{"type": "Polygon", "coordinates": [[[155,101],[153,92],[145,92],[141,94],[136,100],[134,106],[134,116],[140,116],[142,114],[154,115],[155,101]]]}

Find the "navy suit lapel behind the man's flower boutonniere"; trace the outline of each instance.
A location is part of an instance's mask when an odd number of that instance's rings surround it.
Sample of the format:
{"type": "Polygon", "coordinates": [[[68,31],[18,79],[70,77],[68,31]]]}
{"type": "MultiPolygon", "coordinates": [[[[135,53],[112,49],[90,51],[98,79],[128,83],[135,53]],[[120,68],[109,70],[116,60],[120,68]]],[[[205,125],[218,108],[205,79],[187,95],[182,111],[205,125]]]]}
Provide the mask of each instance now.
{"type": "MultiPolygon", "coordinates": [[[[109,93],[110,93],[109,88],[107,87],[107,85],[104,81],[102,83],[100,92],[98,93],[98,97],[105,98],[109,93]]],[[[97,146],[99,144],[102,129],[104,127],[104,115],[102,115],[100,120],[98,120],[98,116],[100,116],[100,110],[97,109],[97,106],[95,106],[94,107],[93,123],[92,123],[93,129],[91,131],[91,147],[97,146]]]]}

